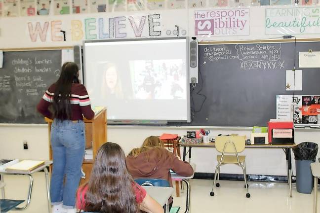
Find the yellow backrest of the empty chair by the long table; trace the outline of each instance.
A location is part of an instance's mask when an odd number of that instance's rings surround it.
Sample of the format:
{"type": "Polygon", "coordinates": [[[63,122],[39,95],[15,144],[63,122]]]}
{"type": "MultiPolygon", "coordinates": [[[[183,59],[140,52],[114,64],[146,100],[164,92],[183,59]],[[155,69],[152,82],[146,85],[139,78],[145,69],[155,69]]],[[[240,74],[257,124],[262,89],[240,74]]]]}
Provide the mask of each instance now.
{"type": "Polygon", "coordinates": [[[244,150],[245,136],[217,136],[214,143],[218,152],[223,152],[223,149],[226,146],[225,153],[236,153],[235,147],[239,153],[244,150]]]}

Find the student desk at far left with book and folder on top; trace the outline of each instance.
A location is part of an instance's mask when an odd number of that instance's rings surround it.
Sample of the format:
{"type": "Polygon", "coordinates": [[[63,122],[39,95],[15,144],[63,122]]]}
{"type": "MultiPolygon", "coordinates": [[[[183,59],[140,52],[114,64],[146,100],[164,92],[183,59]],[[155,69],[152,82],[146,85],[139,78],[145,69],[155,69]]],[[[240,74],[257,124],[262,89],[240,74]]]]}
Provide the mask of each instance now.
{"type": "MultiPolygon", "coordinates": [[[[29,204],[30,204],[30,200],[31,200],[31,194],[32,194],[32,186],[33,186],[33,177],[32,174],[36,173],[36,172],[40,172],[40,171],[44,171],[44,175],[45,175],[45,181],[46,181],[46,189],[47,189],[47,198],[48,198],[48,213],[51,212],[51,201],[50,201],[50,185],[49,185],[49,173],[46,167],[50,166],[52,164],[52,161],[45,161],[44,165],[32,170],[32,171],[27,171],[27,172],[6,172],[4,171],[0,171],[0,176],[1,176],[1,180],[0,180],[0,184],[3,184],[3,175],[25,175],[29,177],[29,192],[28,192],[28,198],[27,198],[27,204],[23,207],[16,207],[15,210],[24,210],[26,209],[29,204]]],[[[4,187],[1,188],[2,191],[2,198],[5,198],[5,193],[4,193],[4,187]]]]}

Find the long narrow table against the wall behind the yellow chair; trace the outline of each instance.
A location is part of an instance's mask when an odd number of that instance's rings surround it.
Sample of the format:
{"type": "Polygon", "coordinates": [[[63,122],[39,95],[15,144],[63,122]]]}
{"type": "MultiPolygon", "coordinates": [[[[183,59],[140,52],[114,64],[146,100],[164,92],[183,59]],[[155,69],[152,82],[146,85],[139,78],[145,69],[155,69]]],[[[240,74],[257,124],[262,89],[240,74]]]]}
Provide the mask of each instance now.
{"type": "MultiPolygon", "coordinates": [[[[209,143],[178,143],[178,146],[183,147],[183,160],[186,160],[186,149],[189,147],[189,161],[191,159],[191,148],[192,147],[215,147],[214,142],[209,143]]],[[[281,148],[285,150],[285,159],[287,161],[287,178],[289,182],[289,189],[290,189],[290,197],[292,197],[292,177],[291,177],[291,149],[294,147],[295,144],[282,144],[282,145],[274,145],[274,144],[254,144],[254,145],[245,145],[245,148],[281,148]]]]}

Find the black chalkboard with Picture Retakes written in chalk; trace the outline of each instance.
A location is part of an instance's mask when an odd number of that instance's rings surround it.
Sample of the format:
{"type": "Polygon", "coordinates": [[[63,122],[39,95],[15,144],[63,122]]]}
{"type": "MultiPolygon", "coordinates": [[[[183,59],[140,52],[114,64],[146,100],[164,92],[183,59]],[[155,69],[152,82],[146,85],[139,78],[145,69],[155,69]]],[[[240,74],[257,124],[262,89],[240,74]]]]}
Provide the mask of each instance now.
{"type": "MultiPolygon", "coordinates": [[[[193,120],[182,125],[266,126],[276,118],[276,95],[293,94],[285,90],[285,74],[294,68],[294,46],[294,42],[200,45],[199,84],[191,92],[193,120]]],[[[320,42],[296,43],[296,70],[299,52],[309,49],[320,51],[320,42]]],[[[320,94],[320,69],[301,70],[303,91],[295,94],[320,94]]]]}

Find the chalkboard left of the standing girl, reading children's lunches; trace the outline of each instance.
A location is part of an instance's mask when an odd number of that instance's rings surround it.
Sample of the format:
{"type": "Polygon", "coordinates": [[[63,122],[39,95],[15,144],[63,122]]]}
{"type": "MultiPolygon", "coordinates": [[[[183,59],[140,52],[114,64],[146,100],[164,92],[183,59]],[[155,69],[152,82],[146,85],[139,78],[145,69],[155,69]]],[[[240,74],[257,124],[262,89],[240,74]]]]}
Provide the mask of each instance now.
{"type": "Polygon", "coordinates": [[[61,50],[3,52],[0,123],[44,123],[36,106],[60,68],[61,50]]]}

